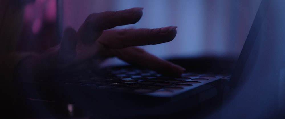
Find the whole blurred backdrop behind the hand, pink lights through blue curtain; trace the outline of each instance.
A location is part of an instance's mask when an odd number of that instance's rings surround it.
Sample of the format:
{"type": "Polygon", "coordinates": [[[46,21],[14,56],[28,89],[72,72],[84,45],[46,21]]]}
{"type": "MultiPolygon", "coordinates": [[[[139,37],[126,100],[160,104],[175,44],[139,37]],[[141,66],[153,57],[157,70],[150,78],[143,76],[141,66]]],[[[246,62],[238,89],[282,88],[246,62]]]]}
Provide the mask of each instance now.
{"type": "MultiPolygon", "coordinates": [[[[261,0],[35,0],[25,6],[23,35],[46,47],[20,47],[44,51],[60,42],[66,26],[78,29],[93,12],[143,7],[136,24],[120,28],[178,26],[175,39],[159,45],[141,46],[162,58],[200,56],[237,57],[243,47],[261,0]],[[27,35],[28,34],[28,35],[27,35]],[[50,41],[54,37],[55,41],[50,41]]],[[[33,41],[33,42],[35,42],[33,41]]],[[[34,43],[31,43],[34,44],[34,43]]],[[[103,65],[123,64],[117,58],[103,65]]]]}

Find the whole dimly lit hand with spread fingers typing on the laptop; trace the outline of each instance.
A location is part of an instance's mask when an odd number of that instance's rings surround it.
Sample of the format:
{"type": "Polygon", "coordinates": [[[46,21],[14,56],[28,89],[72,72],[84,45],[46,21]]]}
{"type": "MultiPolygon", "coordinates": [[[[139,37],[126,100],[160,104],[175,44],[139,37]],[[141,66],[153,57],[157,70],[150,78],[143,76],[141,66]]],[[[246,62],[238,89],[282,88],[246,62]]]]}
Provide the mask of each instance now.
{"type": "Polygon", "coordinates": [[[66,28],[59,45],[39,56],[24,60],[18,71],[30,70],[27,74],[42,77],[70,69],[81,70],[98,66],[109,57],[118,57],[130,64],[144,66],[160,73],[181,75],[184,68],[133,47],[172,41],[176,36],[177,27],[111,29],[115,26],[134,24],[141,16],[142,8],[90,14],[78,32],[66,28]]]}

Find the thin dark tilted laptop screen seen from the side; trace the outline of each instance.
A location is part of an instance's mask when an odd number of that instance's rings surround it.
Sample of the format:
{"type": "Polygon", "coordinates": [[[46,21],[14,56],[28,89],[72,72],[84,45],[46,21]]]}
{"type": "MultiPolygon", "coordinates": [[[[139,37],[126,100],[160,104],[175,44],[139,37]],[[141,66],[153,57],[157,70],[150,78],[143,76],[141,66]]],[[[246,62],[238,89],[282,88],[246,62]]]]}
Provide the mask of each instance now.
{"type": "Polygon", "coordinates": [[[236,87],[239,83],[244,82],[241,77],[242,72],[250,72],[248,65],[254,65],[257,58],[256,50],[260,47],[260,28],[264,22],[266,13],[268,11],[270,1],[263,0],[260,3],[258,11],[256,13],[253,24],[251,25],[247,39],[239,56],[237,66],[232,74],[230,85],[236,87]],[[259,36],[258,36],[259,35],[259,36]],[[259,39],[258,39],[259,38],[259,39]],[[247,64],[247,67],[246,67],[247,64]]]}

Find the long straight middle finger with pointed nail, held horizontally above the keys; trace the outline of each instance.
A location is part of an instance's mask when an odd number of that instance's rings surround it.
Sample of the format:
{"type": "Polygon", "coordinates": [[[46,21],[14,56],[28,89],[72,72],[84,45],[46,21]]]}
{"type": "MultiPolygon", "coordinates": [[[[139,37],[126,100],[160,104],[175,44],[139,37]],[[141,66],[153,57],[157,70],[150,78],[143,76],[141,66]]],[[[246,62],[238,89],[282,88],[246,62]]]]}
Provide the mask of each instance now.
{"type": "Polygon", "coordinates": [[[109,48],[159,44],[172,41],[176,36],[176,28],[105,30],[97,42],[109,48]]]}

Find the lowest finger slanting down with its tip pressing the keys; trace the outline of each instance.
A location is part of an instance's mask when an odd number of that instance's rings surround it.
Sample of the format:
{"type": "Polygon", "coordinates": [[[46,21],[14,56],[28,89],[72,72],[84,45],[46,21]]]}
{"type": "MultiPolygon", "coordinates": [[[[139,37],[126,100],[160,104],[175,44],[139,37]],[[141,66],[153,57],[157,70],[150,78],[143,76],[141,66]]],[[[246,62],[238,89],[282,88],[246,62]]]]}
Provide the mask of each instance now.
{"type": "Polygon", "coordinates": [[[114,50],[115,55],[127,63],[150,68],[162,74],[181,76],[184,68],[171,62],[159,59],[143,49],[137,47],[127,47],[124,49],[114,50]]]}

